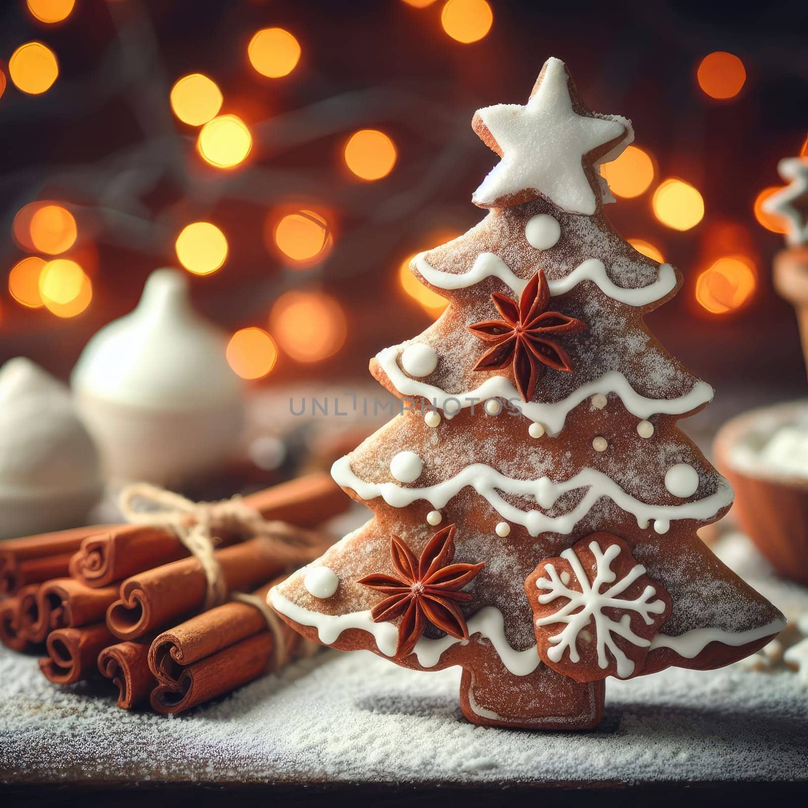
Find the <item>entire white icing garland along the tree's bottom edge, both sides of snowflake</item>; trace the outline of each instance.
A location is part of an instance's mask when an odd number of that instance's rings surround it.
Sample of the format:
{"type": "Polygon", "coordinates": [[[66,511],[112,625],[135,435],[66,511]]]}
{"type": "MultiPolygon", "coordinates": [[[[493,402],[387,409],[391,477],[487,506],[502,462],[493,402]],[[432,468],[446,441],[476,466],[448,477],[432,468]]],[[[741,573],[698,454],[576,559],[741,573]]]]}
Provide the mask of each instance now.
{"type": "MultiPolygon", "coordinates": [[[[347,614],[322,614],[310,612],[309,609],[293,604],[291,600],[280,595],[273,587],[267,595],[267,601],[272,608],[280,614],[300,625],[309,625],[317,629],[320,642],[327,646],[337,641],[339,635],[347,629],[360,629],[372,635],[377,648],[385,656],[392,657],[396,652],[398,629],[392,623],[374,623],[370,610],[361,612],[347,612],[347,614]]],[[[530,646],[518,651],[511,648],[505,637],[505,619],[503,613],[495,606],[484,606],[473,617],[469,618],[469,636],[481,634],[488,638],[494,646],[499,659],[508,671],[515,676],[527,676],[541,664],[537,647],[530,646]]],[[[770,634],[779,633],[785,628],[785,620],[776,619],[767,625],[747,631],[726,631],[726,629],[703,628],[691,629],[673,637],[667,634],[657,634],[651,640],[650,651],[670,648],[684,659],[693,659],[704,650],[710,642],[722,642],[727,646],[743,646],[747,642],[755,642],[770,634]]],[[[435,667],[446,650],[457,642],[464,644],[468,640],[458,640],[446,635],[437,640],[422,637],[415,644],[413,653],[421,667],[435,667]]]]}

